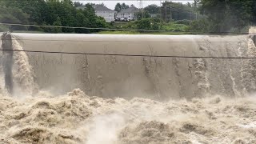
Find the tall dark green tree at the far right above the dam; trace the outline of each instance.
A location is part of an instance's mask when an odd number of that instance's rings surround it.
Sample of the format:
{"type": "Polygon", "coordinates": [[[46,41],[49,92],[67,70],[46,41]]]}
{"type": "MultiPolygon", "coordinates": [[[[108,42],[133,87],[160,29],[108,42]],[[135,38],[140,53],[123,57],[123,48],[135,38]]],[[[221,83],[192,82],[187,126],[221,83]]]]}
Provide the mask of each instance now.
{"type": "Polygon", "coordinates": [[[256,23],[254,0],[201,0],[199,3],[201,13],[206,14],[212,25],[212,31],[242,30],[244,26],[256,23]]]}

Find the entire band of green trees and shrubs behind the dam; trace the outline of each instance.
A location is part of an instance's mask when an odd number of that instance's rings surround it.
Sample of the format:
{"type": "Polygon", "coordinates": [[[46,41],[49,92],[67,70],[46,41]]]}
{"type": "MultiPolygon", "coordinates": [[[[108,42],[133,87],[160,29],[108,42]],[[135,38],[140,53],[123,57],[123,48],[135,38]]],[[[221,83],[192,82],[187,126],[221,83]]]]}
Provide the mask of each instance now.
{"type": "MultiPolygon", "coordinates": [[[[0,0],[0,22],[43,26],[71,26],[91,28],[119,28],[94,13],[91,4],[71,0],[0,0]]],[[[129,5],[117,3],[114,10],[125,10],[129,5]]],[[[162,2],[150,5],[137,14],[138,21],[122,29],[173,30],[178,26],[191,31],[244,31],[256,24],[255,0],[194,0],[194,3],[162,2]],[[154,14],[155,18],[150,18],[154,14]]],[[[176,30],[175,29],[175,30],[176,30]]],[[[5,30],[37,30],[49,33],[95,33],[99,30],[51,28],[34,26],[2,26],[5,30]]]]}

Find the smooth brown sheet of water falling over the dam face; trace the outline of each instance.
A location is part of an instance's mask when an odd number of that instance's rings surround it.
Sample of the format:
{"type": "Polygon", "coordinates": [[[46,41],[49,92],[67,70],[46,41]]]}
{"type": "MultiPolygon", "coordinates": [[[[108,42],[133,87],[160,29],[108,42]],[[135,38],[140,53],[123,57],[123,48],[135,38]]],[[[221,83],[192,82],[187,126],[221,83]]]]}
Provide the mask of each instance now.
{"type": "Polygon", "coordinates": [[[256,47],[248,35],[12,35],[23,50],[86,53],[26,52],[41,90],[80,88],[102,98],[158,100],[238,97],[256,90],[256,47]]]}

